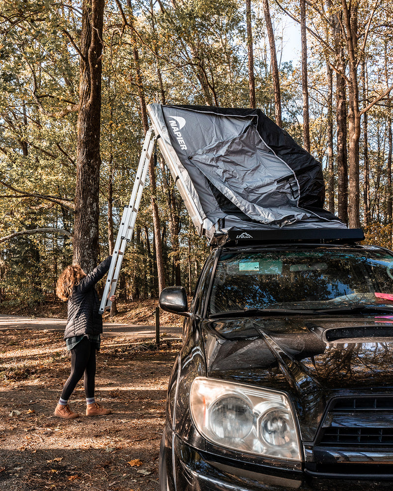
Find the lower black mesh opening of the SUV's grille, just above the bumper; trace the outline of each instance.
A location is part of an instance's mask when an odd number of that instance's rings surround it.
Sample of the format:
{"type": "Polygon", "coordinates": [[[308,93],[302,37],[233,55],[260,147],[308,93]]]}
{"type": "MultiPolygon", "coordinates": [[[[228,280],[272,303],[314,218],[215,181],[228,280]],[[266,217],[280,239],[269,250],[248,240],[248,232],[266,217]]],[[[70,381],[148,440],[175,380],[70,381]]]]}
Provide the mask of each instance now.
{"type": "Polygon", "coordinates": [[[393,446],[393,428],[327,428],[324,445],[393,446]]]}

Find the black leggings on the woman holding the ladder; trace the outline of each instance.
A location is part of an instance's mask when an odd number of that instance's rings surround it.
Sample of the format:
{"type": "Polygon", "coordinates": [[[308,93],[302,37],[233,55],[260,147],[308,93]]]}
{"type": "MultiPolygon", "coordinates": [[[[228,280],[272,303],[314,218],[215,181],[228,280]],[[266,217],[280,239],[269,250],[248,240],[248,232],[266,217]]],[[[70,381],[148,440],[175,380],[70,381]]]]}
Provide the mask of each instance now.
{"type": "Polygon", "coordinates": [[[64,401],[68,401],[71,397],[83,374],[86,398],[94,397],[95,351],[95,343],[91,343],[86,336],[71,350],[71,374],[61,392],[61,399],[64,401]]]}

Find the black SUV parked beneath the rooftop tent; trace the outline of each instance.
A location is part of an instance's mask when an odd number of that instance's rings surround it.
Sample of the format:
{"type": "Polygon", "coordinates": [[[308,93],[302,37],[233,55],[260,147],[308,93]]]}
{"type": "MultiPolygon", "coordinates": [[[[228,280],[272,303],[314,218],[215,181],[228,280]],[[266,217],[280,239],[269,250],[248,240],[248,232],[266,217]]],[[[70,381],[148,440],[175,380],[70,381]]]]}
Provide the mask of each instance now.
{"type": "Polygon", "coordinates": [[[393,252],[297,233],[217,246],[190,307],[162,292],[161,490],[392,489],[393,252]]]}

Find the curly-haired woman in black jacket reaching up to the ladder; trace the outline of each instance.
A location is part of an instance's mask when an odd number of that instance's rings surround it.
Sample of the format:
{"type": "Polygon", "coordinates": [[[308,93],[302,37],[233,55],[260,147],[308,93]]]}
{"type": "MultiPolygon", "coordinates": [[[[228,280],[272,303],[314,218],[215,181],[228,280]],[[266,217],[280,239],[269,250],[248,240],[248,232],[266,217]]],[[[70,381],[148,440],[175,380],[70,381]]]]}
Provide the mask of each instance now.
{"type": "MultiPolygon", "coordinates": [[[[84,273],[78,265],[67,266],[60,274],[56,284],[56,294],[67,300],[68,314],[64,339],[67,350],[71,352],[71,374],[65,382],[55,409],[55,416],[64,419],[78,418],[79,414],[68,406],[68,399],[77,383],[84,375],[86,395],[86,416],[110,414],[94,399],[96,351],[100,349],[102,316],[99,313],[100,300],[95,284],[111,265],[112,256],[107,257],[91,273],[84,273]]],[[[114,295],[110,298],[115,299],[114,295]]]]}

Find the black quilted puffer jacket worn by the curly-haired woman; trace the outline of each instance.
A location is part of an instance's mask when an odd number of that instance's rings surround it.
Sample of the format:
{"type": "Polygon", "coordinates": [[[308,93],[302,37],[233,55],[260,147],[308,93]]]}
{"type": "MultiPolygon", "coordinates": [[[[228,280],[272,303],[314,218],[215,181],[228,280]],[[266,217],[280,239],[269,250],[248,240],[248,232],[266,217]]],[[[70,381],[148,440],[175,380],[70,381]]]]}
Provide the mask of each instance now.
{"type": "Polygon", "coordinates": [[[112,256],[107,257],[97,268],[74,286],[72,295],[67,301],[68,314],[64,339],[83,334],[101,334],[102,315],[100,300],[95,287],[111,266],[112,256]]]}

